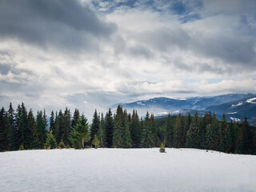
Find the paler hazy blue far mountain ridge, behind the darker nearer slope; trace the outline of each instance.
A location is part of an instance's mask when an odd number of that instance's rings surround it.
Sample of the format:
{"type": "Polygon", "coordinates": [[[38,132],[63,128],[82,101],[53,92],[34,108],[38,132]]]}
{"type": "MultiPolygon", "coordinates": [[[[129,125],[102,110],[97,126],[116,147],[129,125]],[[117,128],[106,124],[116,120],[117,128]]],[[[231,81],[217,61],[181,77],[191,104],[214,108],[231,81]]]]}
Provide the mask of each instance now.
{"type": "MultiPolygon", "coordinates": [[[[137,110],[140,116],[144,116],[146,111],[154,113],[155,116],[166,116],[167,114],[194,114],[195,110],[202,111],[205,114],[209,106],[218,106],[226,102],[234,102],[243,98],[256,98],[254,94],[225,94],[214,97],[195,97],[183,98],[182,100],[172,98],[151,98],[130,103],[118,103],[112,106],[115,109],[119,104],[129,112],[137,110]]],[[[256,100],[248,100],[248,102],[256,102],[256,100]]],[[[237,103],[239,105],[239,103],[237,103]]]]}

